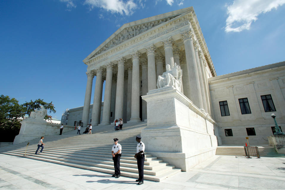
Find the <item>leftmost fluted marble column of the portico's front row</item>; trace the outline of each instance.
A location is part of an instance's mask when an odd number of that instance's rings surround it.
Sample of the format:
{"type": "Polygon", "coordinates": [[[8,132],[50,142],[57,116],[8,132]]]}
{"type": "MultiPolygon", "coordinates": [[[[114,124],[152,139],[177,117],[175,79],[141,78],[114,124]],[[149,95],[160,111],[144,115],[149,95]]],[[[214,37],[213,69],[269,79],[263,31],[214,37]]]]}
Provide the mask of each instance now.
{"type": "Polygon", "coordinates": [[[88,71],[86,72],[86,75],[87,75],[87,85],[86,85],[84,106],[82,113],[82,122],[84,127],[86,127],[87,124],[89,123],[89,111],[90,111],[91,91],[92,91],[94,73],[93,71],[88,71]]]}

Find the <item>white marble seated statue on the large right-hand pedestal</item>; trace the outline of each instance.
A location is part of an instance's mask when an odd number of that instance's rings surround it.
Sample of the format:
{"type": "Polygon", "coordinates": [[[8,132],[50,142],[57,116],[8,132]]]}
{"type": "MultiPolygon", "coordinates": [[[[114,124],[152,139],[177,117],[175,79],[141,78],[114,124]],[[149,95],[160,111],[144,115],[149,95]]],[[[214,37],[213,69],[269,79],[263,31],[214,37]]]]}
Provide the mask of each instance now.
{"type": "Polygon", "coordinates": [[[163,88],[164,86],[174,86],[181,92],[182,70],[180,66],[175,66],[170,70],[170,65],[166,65],[166,71],[158,76],[156,86],[163,88]]]}

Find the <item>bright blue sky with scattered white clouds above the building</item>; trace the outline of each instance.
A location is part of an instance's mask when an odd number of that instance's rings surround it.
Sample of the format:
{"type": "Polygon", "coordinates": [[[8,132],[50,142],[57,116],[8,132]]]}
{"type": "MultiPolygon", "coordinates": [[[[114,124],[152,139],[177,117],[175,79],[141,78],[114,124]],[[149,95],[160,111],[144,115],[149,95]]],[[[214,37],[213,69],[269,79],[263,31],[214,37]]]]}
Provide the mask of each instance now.
{"type": "Polygon", "coordinates": [[[285,61],[285,0],[0,0],[0,94],[53,101],[61,119],[83,106],[82,60],[105,39],[124,23],[191,6],[217,75],[285,61]]]}

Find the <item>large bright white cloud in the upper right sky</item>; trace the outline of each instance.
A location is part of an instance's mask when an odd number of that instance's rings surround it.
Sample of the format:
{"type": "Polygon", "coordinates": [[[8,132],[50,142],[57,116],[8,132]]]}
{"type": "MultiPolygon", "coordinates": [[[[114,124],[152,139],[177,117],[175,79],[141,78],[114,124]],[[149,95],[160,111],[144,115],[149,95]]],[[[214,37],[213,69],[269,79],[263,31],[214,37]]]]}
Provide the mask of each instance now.
{"type": "Polygon", "coordinates": [[[258,15],[277,9],[285,0],[235,0],[227,6],[226,32],[249,30],[258,15]]]}

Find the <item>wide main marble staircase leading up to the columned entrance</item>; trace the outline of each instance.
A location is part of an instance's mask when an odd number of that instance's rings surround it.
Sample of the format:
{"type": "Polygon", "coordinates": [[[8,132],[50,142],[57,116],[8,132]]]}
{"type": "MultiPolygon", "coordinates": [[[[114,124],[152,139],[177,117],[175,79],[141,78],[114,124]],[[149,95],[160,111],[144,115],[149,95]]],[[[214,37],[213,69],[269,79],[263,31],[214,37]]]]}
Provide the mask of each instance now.
{"type": "MultiPolygon", "coordinates": [[[[29,142],[26,156],[23,157],[114,174],[111,150],[114,144],[113,138],[118,138],[118,143],[122,145],[121,175],[138,178],[137,160],[134,158],[137,147],[135,139],[146,125],[146,122],[136,125],[124,124],[123,130],[119,131],[114,131],[114,126],[111,125],[93,126],[93,134],[83,134],[85,129],[82,129],[81,135],[77,135],[77,130],[74,130],[62,135],[45,136],[43,152],[39,152],[40,148],[37,155],[34,153],[40,137],[25,143],[2,147],[0,153],[23,156],[29,142]]],[[[180,171],[181,169],[145,151],[144,179],[161,181],[180,171]]]]}

